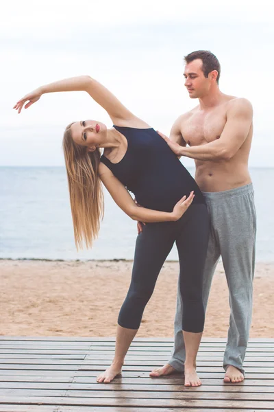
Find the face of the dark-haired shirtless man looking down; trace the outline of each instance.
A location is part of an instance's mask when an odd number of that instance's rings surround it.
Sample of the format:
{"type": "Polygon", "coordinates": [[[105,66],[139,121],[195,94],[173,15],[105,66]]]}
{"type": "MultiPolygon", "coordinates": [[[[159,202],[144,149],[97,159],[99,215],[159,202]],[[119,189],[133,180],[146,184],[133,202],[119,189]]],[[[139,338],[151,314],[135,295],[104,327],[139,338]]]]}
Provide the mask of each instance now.
{"type": "Polygon", "coordinates": [[[188,63],[184,68],[184,85],[188,90],[191,99],[202,98],[210,88],[210,76],[208,78],[203,74],[203,62],[200,58],[188,63]]]}

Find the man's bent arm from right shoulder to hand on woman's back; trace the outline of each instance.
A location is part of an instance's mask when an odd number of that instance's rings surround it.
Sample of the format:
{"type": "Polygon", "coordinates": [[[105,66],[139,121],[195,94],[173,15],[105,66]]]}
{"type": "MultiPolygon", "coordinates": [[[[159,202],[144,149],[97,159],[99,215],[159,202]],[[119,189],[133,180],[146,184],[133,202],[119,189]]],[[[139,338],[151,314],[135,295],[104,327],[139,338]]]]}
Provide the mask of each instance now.
{"type": "Polygon", "coordinates": [[[160,135],[166,140],[173,152],[179,156],[191,159],[214,161],[229,160],[244,143],[252,124],[253,110],[251,103],[246,99],[237,99],[229,103],[227,108],[227,122],[219,139],[201,146],[182,147],[160,135]]]}

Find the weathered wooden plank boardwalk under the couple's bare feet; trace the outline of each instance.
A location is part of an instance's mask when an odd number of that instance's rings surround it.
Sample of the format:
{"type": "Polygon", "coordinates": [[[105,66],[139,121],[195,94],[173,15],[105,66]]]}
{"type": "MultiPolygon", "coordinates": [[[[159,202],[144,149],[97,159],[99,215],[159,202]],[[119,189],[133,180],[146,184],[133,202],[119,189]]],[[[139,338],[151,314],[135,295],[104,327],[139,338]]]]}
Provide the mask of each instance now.
{"type": "Polygon", "coordinates": [[[0,412],[274,411],[274,339],[251,339],[246,379],[223,384],[224,339],[203,339],[197,370],[203,385],[185,388],[180,375],[149,378],[163,365],[170,339],[135,339],[123,376],[109,385],[114,339],[0,336],[0,412]]]}

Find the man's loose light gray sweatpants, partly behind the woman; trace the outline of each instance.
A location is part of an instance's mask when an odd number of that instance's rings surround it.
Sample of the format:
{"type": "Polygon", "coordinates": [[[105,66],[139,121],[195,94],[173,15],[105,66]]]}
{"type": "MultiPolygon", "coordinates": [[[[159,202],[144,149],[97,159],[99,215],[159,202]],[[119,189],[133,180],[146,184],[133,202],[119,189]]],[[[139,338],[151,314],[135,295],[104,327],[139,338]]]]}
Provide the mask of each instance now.
{"type": "MultiPolygon", "coordinates": [[[[225,192],[203,192],[210,214],[210,240],[203,274],[203,304],[208,304],[212,277],[220,256],[229,288],[230,319],[223,367],[233,365],[242,373],[252,314],[255,264],[256,209],[253,185],[225,192]]],[[[223,299],[219,297],[220,309],[223,299]]],[[[169,365],[184,371],[186,356],[182,334],[182,297],[177,293],[175,342],[169,365]]]]}

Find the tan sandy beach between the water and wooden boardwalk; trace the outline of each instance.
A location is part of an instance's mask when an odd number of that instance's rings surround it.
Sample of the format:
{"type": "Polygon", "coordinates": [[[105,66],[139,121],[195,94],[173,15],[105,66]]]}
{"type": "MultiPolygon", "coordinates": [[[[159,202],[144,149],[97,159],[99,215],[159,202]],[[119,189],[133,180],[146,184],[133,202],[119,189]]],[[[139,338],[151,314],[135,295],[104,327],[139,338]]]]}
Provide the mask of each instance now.
{"type": "MultiPolygon", "coordinates": [[[[139,337],[173,336],[178,262],[166,262],[139,337]]],[[[114,336],[132,262],[0,260],[1,334],[114,336]]],[[[251,337],[274,338],[274,263],[256,264],[251,337]]],[[[214,275],[204,336],[226,337],[229,303],[223,265],[214,275]]]]}

